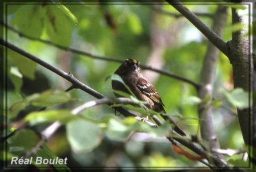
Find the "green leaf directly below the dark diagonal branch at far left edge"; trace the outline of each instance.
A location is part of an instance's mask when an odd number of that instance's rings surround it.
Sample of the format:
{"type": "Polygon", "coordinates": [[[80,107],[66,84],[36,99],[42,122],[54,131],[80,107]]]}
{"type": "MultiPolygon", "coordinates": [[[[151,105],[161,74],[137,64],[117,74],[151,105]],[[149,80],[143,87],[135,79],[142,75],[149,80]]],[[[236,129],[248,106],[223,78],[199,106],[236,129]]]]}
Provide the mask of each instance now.
{"type": "Polygon", "coordinates": [[[10,66],[16,66],[22,75],[31,80],[35,79],[36,62],[33,62],[10,49],[7,50],[7,60],[10,62],[10,66]]]}

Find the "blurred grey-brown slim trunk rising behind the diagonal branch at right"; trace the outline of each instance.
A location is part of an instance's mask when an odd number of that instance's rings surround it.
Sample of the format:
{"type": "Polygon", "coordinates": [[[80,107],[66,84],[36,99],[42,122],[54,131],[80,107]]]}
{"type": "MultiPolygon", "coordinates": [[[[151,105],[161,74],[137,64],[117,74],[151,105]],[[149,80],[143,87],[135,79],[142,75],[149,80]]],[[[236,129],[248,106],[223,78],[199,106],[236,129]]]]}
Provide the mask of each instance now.
{"type": "MultiPolygon", "coordinates": [[[[227,6],[218,6],[214,17],[214,23],[212,25],[212,31],[216,32],[219,36],[222,35],[223,29],[227,21],[227,6]]],[[[201,79],[200,83],[202,86],[198,90],[198,97],[200,99],[205,99],[206,96],[212,95],[212,90],[214,87],[214,75],[216,71],[216,63],[219,57],[219,50],[211,42],[207,47],[207,52],[204,57],[204,64],[202,65],[201,79]]],[[[218,142],[214,123],[212,121],[212,106],[209,107],[212,99],[207,102],[202,102],[198,106],[198,115],[200,116],[200,131],[202,139],[207,141],[209,148],[212,150],[217,150],[220,148],[220,143],[218,142]]],[[[224,159],[224,156],[217,154],[217,152],[212,152],[217,157],[224,159]]]]}

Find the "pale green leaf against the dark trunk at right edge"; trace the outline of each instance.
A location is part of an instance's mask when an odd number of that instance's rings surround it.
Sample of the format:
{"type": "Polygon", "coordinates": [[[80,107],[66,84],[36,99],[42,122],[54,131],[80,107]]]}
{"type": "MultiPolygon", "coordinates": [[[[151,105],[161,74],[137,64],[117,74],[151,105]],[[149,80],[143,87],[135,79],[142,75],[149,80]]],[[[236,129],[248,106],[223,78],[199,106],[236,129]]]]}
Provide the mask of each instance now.
{"type": "Polygon", "coordinates": [[[221,92],[223,92],[227,100],[234,106],[237,106],[237,108],[242,110],[249,107],[249,93],[245,92],[243,89],[237,88],[231,92],[223,89],[221,92]]]}

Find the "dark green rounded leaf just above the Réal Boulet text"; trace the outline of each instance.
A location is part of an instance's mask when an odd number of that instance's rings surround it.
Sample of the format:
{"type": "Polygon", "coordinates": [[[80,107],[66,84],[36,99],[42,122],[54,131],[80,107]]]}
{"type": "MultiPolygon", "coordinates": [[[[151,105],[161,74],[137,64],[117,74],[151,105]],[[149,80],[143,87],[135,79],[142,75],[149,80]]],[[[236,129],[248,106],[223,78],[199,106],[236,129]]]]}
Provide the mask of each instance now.
{"type": "Polygon", "coordinates": [[[13,151],[26,152],[35,147],[39,140],[40,137],[34,131],[31,131],[30,129],[21,129],[10,138],[10,146],[20,147],[20,149],[12,149],[13,151]]]}

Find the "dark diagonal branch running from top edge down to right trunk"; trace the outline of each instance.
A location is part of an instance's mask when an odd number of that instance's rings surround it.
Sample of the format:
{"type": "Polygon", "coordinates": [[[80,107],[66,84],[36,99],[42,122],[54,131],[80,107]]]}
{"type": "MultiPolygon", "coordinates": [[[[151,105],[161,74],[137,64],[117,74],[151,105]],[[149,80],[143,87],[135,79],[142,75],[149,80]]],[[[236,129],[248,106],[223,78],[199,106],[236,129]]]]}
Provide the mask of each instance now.
{"type": "Polygon", "coordinates": [[[211,41],[223,54],[228,56],[226,42],[218,36],[214,31],[212,31],[207,25],[205,25],[194,13],[188,10],[180,1],[178,0],[166,0],[170,5],[172,5],[176,10],[178,10],[184,17],[186,17],[195,27],[206,36],[206,38],[211,41]]]}

